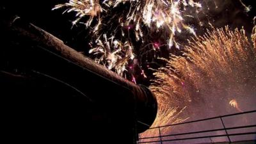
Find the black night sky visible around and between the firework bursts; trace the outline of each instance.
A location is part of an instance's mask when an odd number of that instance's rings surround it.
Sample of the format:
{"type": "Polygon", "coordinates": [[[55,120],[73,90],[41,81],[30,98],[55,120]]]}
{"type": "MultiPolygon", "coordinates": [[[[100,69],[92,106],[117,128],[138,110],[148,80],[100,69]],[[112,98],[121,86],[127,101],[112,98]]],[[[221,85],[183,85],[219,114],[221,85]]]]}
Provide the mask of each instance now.
{"type": "MultiPolygon", "coordinates": [[[[90,50],[89,42],[92,40],[92,36],[90,31],[85,28],[84,24],[77,24],[76,26],[72,26],[72,20],[74,20],[75,13],[65,13],[61,14],[63,10],[54,10],[56,4],[65,3],[67,1],[63,0],[54,0],[54,1],[15,1],[15,3],[9,2],[1,2],[4,3],[1,8],[6,9],[8,13],[14,13],[22,17],[22,19],[26,19],[29,22],[35,24],[36,26],[45,29],[49,33],[54,36],[57,36],[65,44],[76,49],[79,52],[83,52],[85,56],[91,56],[88,54],[90,50]]],[[[200,1],[202,4],[205,1],[200,1]]],[[[211,22],[213,26],[216,28],[220,28],[226,25],[229,25],[231,28],[241,28],[244,26],[246,31],[251,31],[253,27],[253,17],[255,16],[255,2],[246,0],[243,1],[247,6],[251,6],[250,12],[246,13],[244,7],[241,6],[239,1],[216,1],[216,4],[219,5],[218,8],[211,8],[211,10],[203,10],[203,14],[200,13],[198,15],[198,19],[204,22],[204,26],[200,26],[195,19],[185,19],[186,22],[195,28],[197,35],[204,35],[209,25],[208,22],[211,22]],[[204,12],[205,11],[205,12],[204,12]]],[[[209,7],[213,7],[212,1],[207,1],[209,7]]],[[[122,11],[127,11],[129,9],[129,4],[120,4],[118,8],[116,8],[115,13],[122,13],[122,11]]],[[[190,12],[190,13],[193,13],[190,12]]],[[[115,23],[110,24],[115,25],[115,23]]],[[[103,31],[108,31],[108,26],[103,28],[103,31]]],[[[131,35],[132,36],[132,35],[131,35]]],[[[152,34],[152,42],[164,42],[165,38],[161,38],[161,33],[152,34]],[[155,38],[154,38],[155,37],[155,38]]],[[[181,35],[176,35],[177,40],[180,44],[186,44],[187,39],[191,36],[189,33],[182,33],[181,35]]],[[[150,79],[154,79],[152,76],[152,70],[150,68],[159,68],[164,64],[164,61],[157,60],[157,58],[168,58],[170,54],[180,55],[182,54],[182,49],[168,49],[168,47],[161,47],[160,51],[154,51],[153,53],[149,52],[149,54],[145,56],[141,56],[140,54],[140,43],[134,43],[134,52],[138,55],[138,63],[140,63],[140,67],[145,70],[145,74],[147,75],[147,79],[141,76],[141,68],[138,66],[133,67],[132,70],[129,68],[127,73],[127,79],[131,81],[131,74],[136,77],[137,83],[149,85],[150,79]]],[[[130,61],[131,63],[131,61],[130,61]]],[[[132,62],[134,63],[134,61],[132,62]]],[[[137,61],[135,61],[137,63],[137,61]]],[[[130,65],[130,64],[129,64],[130,65]]]]}

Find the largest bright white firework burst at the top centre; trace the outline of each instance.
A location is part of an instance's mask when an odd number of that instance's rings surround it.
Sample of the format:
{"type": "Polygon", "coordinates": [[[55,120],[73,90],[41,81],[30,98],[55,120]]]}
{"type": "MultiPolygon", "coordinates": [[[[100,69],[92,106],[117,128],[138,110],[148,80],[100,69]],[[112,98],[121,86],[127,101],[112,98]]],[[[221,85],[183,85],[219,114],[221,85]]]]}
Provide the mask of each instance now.
{"type": "Polygon", "coordinates": [[[195,3],[193,0],[131,1],[129,13],[124,22],[121,22],[121,26],[131,26],[131,23],[135,23],[134,33],[137,40],[143,39],[142,26],[147,26],[150,31],[164,29],[170,35],[167,40],[169,47],[172,47],[173,44],[179,47],[177,42],[175,42],[175,33],[180,33],[182,29],[186,29],[189,33],[196,35],[193,28],[184,24],[182,10],[186,10],[188,6],[202,7],[200,3],[195,3]]]}

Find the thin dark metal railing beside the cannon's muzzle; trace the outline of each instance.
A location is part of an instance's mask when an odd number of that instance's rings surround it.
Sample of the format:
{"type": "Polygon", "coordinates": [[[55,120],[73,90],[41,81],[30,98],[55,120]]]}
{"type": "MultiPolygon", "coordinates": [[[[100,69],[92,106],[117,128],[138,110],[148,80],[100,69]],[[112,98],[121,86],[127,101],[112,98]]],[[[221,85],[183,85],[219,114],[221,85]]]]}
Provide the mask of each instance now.
{"type": "MultiPolygon", "coordinates": [[[[205,118],[205,119],[201,119],[201,120],[193,120],[193,121],[189,121],[189,122],[182,122],[179,124],[171,124],[171,125],[164,125],[164,126],[159,126],[159,127],[152,127],[150,128],[150,130],[155,130],[157,131],[158,129],[158,136],[151,136],[151,137],[145,137],[145,138],[140,138],[138,143],[161,143],[163,144],[164,142],[167,141],[182,141],[182,140],[196,140],[196,139],[204,139],[204,138],[218,138],[218,137],[226,137],[228,141],[228,143],[233,142],[232,140],[230,140],[230,136],[242,136],[242,135],[251,135],[251,134],[256,134],[256,129],[253,129],[253,131],[246,131],[246,132],[231,132],[229,133],[228,131],[230,130],[242,130],[245,128],[256,128],[256,119],[254,120],[254,124],[250,124],[250,125],[241,125],[241,126],[236,126],[236,127],[227,127],[227,124],[225,125],[225,122],[223,120],[223,118],[228,118],[231,116],[241,116],[241,115],[245,115],[245,114],[255,114],[254,116],[256,116],[256,110],[253,111],[246,111],[243,113],[235,113],[235,114],[230,114],[230,115],[223,115],[223,116],[215,116],[215,117],[211,117],[211,118],[205,118]],[[221,122],[221,126],[222,128],[220,129],[209,129],[209,130],[205,130],[205,131],[192,131],[192,132],[182,132],[182,133],[176,133],[176,134],[166,134],[163,135],[163,132],[161,132],[161,128],[168,128],[168,127],[173,127],[176,125],[184,125],[184,124],[195,124],[196,122],[206,122],[209,120],[220,120],[221,122]],[[189,135],[189,134],[204,134],[206,132],[220,132],[223,131],[223,133],[225,134],[212,134],[212,135],[207,135],[207,136],[189,136],[186,137],[185,135],[189,135]],[[170,138],[170,137],[175,137],[175,136],[185,136],[185,138],[170,138]],[[166,139],[169,138],[169,139],[166,139]],[[155,140],[154,140],[155,139],[155,140]],[[157,140],[156,140],[157,139],[157,140]]],[[[256,139],[256,137],[254,137],[256,139]]],[[[254,139],[254,140],[255,140],[254,139]]]]}

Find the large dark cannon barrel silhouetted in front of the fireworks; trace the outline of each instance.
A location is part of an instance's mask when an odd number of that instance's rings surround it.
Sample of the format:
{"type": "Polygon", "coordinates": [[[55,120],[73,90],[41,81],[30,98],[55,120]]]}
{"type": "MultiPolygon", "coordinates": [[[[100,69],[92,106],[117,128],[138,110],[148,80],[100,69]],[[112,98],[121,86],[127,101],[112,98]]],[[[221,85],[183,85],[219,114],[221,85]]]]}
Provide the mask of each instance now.
{"type": "Polygon", "coordinates": [[[56,36],[1,12],[2,131],[8,141],[136,143],[157,102],[56,36]]]}

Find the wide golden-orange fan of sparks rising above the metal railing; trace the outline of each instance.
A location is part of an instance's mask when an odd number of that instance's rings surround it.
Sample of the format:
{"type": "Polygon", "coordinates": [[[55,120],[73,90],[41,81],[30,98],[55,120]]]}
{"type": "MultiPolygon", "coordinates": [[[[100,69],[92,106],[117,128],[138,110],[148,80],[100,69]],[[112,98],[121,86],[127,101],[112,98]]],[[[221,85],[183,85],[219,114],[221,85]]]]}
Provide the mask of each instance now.
{"type": "MultiPolygon", "coordinates": [[[[252,41],[243,29],[213,29],[189,41],[183,56],[166,60],[150,86],[159,104],[153,127],[173,124],[178,115],[195,119],[222,115],[227,113],[228,102],[241,111],[236,99],[229,100],[234,95],[239,99],[255,96],[255,29],[252,41]]],[[[141,136],[150,135],[146,131],[141,136]]]]}

